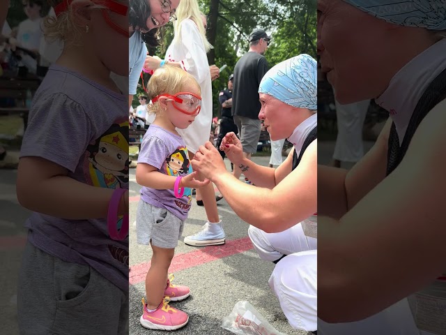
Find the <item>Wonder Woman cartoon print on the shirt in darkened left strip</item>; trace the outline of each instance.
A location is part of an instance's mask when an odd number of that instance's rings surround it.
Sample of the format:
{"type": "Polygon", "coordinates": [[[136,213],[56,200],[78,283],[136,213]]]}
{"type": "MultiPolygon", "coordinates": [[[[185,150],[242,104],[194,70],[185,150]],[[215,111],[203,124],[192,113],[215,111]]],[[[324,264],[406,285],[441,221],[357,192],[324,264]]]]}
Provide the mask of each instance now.
{"type": "MultiPolygon", "coordinates": [[[[115,121],[98,139],[86,149],[84,171],[88,184],[103,188],[128,188],[128,119],[115,121]]],[[[118,218],[121,230],[123,216],[118,218]]],[[[128,265],[128,250],[109,244],[112,257],[128,265]]]]}

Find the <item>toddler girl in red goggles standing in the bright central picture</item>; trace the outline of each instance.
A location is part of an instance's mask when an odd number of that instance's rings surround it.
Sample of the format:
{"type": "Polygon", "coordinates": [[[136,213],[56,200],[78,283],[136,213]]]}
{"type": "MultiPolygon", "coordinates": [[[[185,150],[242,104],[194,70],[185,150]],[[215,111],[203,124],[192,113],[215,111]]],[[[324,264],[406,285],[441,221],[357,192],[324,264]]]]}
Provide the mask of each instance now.
{"type": "Polygon", "coordinates": [[[199,114],[201,90],[192,75],[169,65],[156,70],[147,86],[148,99],[153,103],[149,110],[156,118],[144,135],[138,158],[137,183],[143,187],[137,210],[137,241],[150,244],[153,256],[140,322],[148,329],[174,330],[186,325],[189,317],[169,306],[169,299],[183,300],[190,290],[172,285],[167,270],[191,206],[191,188],[209,182],[194,179],[197,172],[192,172],[185,142],[176,128],[187,128],[199,114]]]}

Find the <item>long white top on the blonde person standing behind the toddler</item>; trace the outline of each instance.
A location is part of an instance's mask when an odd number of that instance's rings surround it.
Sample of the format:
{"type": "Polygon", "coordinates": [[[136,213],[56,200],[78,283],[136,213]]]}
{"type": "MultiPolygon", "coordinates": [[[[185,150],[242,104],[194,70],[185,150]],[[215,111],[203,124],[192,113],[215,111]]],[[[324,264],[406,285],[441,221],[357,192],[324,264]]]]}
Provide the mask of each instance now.
{"type": "Polygon", "coordinates": [[[177,61],[188,73],[193,75],[201,87],[201,111],[195,121],[186,129],[177,129],[186,142],[187,149],[193,154],[200,145],[209,140],[212,124],[212,81],[206,50],[198,27],[190,19],[181,22],[181,36],[178,43],[172,42],[166,52],[166,61],[177,61]]]}

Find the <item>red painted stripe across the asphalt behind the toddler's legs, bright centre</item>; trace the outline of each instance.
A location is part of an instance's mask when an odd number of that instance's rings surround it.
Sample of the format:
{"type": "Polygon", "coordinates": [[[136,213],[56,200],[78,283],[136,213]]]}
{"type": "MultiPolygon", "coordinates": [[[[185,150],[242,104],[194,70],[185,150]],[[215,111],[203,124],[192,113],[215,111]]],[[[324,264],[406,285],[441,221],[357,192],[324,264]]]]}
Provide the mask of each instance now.
{"type": "MultiPolygon", "coordinates": [[[[169,273],[175,273],[190,267],[197,267],[214,260],[243,253],[253,248],[249,237],[242,239],[233,239],[226,241],[222,246],[205,246],[199,250],[190,251],[189,253],[179,253],[174,256],[169,267],[169,273]]],[[[151,267],[151,262],[141,263],[130,267],[129,283],[134,285],[146,280],[146,274],[151,267]]]]}

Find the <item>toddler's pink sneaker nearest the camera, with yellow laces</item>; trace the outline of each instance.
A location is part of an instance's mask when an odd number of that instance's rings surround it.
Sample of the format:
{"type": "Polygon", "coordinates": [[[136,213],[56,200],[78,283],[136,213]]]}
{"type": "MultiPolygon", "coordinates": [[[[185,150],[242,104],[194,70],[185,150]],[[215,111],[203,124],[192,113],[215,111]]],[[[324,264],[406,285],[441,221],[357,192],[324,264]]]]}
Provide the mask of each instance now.
{"type": "Polygon", "coordinates": [[[184,327],[189,321],[189,316],[176,308],[169,306],[169,298],[164,299],[160,306],[149,313],[147,304],[142,298],[143,313],[139,322],[144,328],[158,330],[175,330],[184,327]]]}

